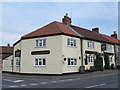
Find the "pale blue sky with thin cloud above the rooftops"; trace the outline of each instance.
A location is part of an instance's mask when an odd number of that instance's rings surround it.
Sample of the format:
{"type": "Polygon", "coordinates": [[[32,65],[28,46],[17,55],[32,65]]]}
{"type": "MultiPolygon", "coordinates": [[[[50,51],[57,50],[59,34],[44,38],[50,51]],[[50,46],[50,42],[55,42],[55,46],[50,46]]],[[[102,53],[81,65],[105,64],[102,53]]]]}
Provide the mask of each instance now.
{"type": "Polygon", "coordinates": [[[0,45],[12,45],[42,26],[62,22],[66,13],[73,25],[89,30],[99,27],[106,35],[118,32],[117,2],[2,2],[0,8],[0,45]]]}

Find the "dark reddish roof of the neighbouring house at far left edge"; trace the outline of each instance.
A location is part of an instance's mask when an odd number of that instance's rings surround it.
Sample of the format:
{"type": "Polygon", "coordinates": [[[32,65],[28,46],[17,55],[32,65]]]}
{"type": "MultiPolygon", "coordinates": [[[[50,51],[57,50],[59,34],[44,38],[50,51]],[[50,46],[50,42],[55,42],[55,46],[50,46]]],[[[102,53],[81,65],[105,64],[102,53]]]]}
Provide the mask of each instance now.
{"type": "Polygon", "coordinates": [[[13,54],[13,47],[10,46],[0,46],[0,53],[2,54],[2,59],[13,54]]]}

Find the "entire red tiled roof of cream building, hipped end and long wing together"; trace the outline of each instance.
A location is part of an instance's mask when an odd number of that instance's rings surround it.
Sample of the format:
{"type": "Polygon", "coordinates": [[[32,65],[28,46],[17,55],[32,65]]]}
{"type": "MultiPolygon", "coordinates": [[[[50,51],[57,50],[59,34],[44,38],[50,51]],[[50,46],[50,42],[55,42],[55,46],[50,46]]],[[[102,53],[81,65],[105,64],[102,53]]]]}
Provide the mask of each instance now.
{"type": "MultiPolygon", "coordinates": [[[[70,25],[70,27],[74,29],[77,33],[79,33],[80,35],[88,39],[93,39],[93,40],[98,40],[98,41],[103,41],[103,42],[108,42],[108,43],[118,43],[117,41],[119,41],[110,36],[96,33],[88,29],[84,29],[81,27],[73,26],[73,25],[70,25]]],[[[63,23],[55,21],[27,35],[22,36],[22,38],[30,38],[30,37],[42,36],[42,35],[54,35],[54,34],[60,34],[60,33],[65,33],[65,34],[80,37],[80,35],[74,32],[74,30],[72,30],[71,28],[69,28],[63,23]]]]}

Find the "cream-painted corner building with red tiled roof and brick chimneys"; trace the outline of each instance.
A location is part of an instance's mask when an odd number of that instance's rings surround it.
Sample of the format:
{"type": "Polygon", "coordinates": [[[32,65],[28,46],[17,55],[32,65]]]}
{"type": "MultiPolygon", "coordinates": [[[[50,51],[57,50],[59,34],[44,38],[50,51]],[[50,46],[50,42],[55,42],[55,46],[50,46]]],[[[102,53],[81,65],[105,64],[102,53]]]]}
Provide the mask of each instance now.
{"type": "MultiPolygon", "coordinates": [[[[15,73],[75,73],[79,72],[80,66],[89,70],[94,66],[95,54],[103,52],[109,54],[110,65],[115,65],[115,48],[120,46],[115,35],[115,32],[112,37],[103,35],[99,28],[88,30],[72,25],[66,14],[62,23],[54,21],[22,36],[14,44],[13,64],[5,62],[4,65],[12,67],[8,71],[15,73]]],[[[3,71],[7,69],[3,68],[3,71]]]]}

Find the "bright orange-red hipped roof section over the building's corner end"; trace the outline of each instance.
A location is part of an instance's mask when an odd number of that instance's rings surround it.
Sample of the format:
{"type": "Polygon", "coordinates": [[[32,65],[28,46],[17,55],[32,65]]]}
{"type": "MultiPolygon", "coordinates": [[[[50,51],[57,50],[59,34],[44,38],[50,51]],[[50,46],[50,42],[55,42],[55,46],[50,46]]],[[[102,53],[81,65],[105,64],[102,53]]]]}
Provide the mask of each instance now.
{"type": "Polygon", "coordinates": [[[55,21],[27,35],[22,36],[22,38],[29,38],[29,37],[34,37],[34,36],[42,36],[42,35],[50,35],[50,34],[59,34],[59,33],[79,36],[74,31],[72,31],[69,27],[64,25],[63,23],[55,21]]]}

